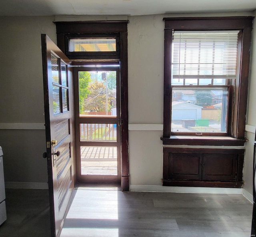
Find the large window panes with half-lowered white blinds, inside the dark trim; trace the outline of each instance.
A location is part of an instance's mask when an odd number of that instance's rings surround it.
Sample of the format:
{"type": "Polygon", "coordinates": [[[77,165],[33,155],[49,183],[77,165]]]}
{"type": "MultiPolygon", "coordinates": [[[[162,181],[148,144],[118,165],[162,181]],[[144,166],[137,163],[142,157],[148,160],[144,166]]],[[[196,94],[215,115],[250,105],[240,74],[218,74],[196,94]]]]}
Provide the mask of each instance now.
{"type": "Polygon", "coordinates": [[[172,133],[227,133],[238,34],[172,32],[172,133]]]}

